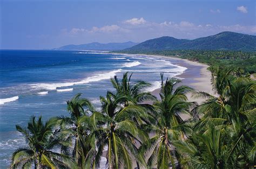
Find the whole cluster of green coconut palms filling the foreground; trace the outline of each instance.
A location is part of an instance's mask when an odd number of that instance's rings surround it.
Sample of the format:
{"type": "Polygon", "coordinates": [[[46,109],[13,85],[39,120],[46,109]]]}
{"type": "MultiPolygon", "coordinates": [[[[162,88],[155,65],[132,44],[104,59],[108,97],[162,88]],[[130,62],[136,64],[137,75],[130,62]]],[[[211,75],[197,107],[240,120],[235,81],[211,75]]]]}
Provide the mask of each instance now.
{"type": "Polygon", "coordinates": [[[130,80],[128,73],[111,79],[115,91],[100,97],[100,110],[77,94],[67,102],[70,116],[16,125],[27,146],[13,153],[10,168],[255,167],[255,81],[216,69],[213,96],[161,74],[157,99],[150,83],[130,80]],[[191,92],[205,102],[189,102],[191,92]]]}

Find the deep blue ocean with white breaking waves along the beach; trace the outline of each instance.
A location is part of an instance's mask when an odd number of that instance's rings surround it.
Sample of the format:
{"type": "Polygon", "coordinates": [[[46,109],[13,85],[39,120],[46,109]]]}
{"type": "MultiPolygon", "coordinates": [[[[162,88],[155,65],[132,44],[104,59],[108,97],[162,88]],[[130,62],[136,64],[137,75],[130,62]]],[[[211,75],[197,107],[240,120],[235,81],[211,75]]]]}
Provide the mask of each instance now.
{"type": "Polygon", "coordinates": [[[0,168],[10,164],[12,152],[25,145],[15,125],[26,125],[31,115],[65,115],[66,101],[77,94],[95,107],[99,96],[113,91],[110,78],[133,73],[132,81],[152,83],[148,91],[160,87],[160,73],[177,76],[186,68],[176,60],[133,54],[97,51],[0,51],[0,168]]]}

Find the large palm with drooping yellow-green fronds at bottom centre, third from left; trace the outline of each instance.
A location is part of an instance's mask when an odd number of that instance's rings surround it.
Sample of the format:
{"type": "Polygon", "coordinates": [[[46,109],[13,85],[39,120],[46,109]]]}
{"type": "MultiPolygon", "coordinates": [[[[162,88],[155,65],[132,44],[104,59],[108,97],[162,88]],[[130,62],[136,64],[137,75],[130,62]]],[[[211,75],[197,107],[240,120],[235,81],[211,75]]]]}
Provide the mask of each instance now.
{"type": "Polygon", "coordinates": [[[144,110],[138,105],[123,107],[120,101],[124,99],[125,96],[113,95],[111,92],[107,92],[106,98],[100,97],[102,111],[93,113],[92,116],[97,119],[97,127],[90,133],[91,138],[96,138],[97,145],[93,168],[99,165],[104,147],[107,147],[106,159],[109,168],[132,168],[132,159],[146,166],[145,159],[136,147],[136,143],[146,140],[146,135],[131,120],[133,117],[139,118],[144,110]]]}

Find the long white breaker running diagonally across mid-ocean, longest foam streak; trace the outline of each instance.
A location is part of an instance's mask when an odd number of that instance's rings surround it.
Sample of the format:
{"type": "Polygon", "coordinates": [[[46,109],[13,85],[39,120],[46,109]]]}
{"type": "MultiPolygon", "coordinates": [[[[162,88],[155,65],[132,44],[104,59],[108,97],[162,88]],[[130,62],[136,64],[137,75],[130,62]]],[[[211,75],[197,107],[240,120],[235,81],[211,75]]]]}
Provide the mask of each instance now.
{"type": "Polygon", "coordinates": [[[86,83],[90,83],[90,82],[96,82],[96,81],[100,81],[100,80],[106,80],[106,79],[110,79],[113,78],[113,76],[116,75],[116,73],[121,72],[122,69],[117,69],[111,72],[106,72],[106,73],[102,73],[102,74],[95,74],[94,76],[91,76],[89,78],[83,79],[81,81],[76,81],[76,82],[64,82],[64,83],[36,83],[36,84],[32,84],[31,87],[32,88],[36,88],[36,89],[47,89],[47,90],[56,90],[59,87],[69,87],[69,86],[73,86],[73,85],[83,85],[86,83]]]}

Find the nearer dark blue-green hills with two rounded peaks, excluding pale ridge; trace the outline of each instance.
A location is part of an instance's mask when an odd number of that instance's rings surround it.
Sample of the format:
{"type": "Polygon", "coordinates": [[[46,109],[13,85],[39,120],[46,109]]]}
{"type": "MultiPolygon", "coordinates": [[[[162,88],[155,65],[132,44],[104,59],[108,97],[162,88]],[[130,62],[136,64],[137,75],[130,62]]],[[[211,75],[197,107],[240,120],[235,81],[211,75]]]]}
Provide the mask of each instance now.
{"type": "Polygon", "coordinates": [[[256,36],[235,32],[221,32],[194,40],[160,37],[126,48],[126,52],[163,50],[230,50],[256,51],[256,36]]]}

